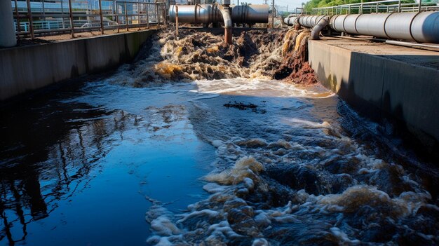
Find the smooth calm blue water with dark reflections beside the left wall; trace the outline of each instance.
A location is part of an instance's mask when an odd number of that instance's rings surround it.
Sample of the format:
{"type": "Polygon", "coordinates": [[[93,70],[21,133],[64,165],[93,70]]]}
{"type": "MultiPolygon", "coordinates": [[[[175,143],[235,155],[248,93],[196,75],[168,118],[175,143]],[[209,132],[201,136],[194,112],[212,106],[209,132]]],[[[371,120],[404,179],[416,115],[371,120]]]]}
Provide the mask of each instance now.
{"type": "Polygon", "coordinates": [[[0,245],[144,245],[145,196],[203,198],[215,149],[157,94],[97,81],[1,109],[0,245]]]}

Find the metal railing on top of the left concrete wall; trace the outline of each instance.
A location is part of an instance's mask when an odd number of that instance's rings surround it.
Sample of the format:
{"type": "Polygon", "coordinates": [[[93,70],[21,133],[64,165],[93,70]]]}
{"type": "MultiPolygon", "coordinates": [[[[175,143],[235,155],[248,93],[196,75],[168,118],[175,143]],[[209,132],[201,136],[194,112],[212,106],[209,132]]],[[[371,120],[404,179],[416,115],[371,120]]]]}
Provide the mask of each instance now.
{"type": "Polygon", "coordinates": [[[11,1],[15,34],[20,37],[72,34],[167,25],[164,2],[147,0],[11,1]],[[50,1],[50,2],[49,2],[50,1]]]}

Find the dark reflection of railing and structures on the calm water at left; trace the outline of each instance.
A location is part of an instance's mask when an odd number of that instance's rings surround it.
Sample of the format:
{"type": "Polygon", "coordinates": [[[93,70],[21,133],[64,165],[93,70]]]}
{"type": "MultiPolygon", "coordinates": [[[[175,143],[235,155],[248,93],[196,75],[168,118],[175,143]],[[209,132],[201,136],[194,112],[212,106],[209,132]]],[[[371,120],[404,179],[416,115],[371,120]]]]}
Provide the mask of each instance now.
{"type": "Polygon", "coordinates": [[[117,140],[109,135],[119,132],[123,139],[136,121],[84,103],[29,104],[1,111],[0,241],[9,245],[26,239],[29,223],[84,189],[93,179],[90,170],[117,140]]]}

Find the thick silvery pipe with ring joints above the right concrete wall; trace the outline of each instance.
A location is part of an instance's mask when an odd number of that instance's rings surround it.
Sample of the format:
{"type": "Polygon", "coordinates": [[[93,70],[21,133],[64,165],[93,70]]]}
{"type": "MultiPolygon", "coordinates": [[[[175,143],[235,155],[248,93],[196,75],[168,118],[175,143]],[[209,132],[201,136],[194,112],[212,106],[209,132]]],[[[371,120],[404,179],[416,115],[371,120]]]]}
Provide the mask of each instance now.
{"type": "Polygon", "coordinates": [[[330,27],[348,34],[439,43],[439,12],[335,15],[330,27]]]}

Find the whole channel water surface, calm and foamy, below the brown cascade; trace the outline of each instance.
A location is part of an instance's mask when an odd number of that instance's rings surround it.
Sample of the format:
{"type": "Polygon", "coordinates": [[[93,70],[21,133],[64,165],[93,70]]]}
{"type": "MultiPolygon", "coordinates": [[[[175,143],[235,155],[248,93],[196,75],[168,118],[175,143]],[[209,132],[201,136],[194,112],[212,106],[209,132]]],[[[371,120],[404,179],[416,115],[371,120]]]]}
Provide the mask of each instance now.
{"type": "Polygon", "coordinates": [[[247,79],[155,88],[100,81],[50,98],[1,111],[0,244],[210,238],[251,245],[259,235],[278,245],[349,244],[346,238],[420,240],[405,226],[435,233],[427,227],[437,223],[438,175],[410,168],[421,163],[398,157],[376,127],[323,88],[247,79]],[[224,107],[230,102],[257,110],[224,107]],[[203,176],[216,184],[205,185],[203,176]],[[394,219],[396,208],[412,211],[414,201],[419,209],[394,219]],[[235,208],[236,216],[227,212],[235,208]],[[180,235],[166,235],[172,223],[180,235]],[[374,225],[393,231],[381,235],[367,227],[374,225]],[[230,233],[215,238],[220,231],[230,233]]]}

